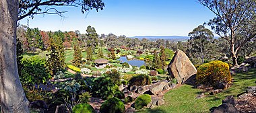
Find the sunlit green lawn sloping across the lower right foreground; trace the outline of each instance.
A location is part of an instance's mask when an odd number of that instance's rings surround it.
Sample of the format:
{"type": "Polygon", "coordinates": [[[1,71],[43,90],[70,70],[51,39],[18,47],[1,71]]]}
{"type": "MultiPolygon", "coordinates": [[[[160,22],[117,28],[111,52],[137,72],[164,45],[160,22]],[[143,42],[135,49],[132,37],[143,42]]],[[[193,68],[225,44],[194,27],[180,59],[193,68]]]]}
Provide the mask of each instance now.
{"type": "MultiPolygon", "coordinates": [[[[201,99],[195,99],[200,89],[193,89],[191,85],[182,85],[179,88],[172,89],[164,95],[165,104],[150,109],[139,110],[138,112],[210,112],[210,108],[220,106],[226,96],[237,96],[245,92],[248,86],[256,85],[256,69],[249,69],[248,73],[237,73],[233,76],[232,87],[215,96],[207,96],[201,99]]],[[[205,93],[206,94],[206,93],[205,93]]]]}

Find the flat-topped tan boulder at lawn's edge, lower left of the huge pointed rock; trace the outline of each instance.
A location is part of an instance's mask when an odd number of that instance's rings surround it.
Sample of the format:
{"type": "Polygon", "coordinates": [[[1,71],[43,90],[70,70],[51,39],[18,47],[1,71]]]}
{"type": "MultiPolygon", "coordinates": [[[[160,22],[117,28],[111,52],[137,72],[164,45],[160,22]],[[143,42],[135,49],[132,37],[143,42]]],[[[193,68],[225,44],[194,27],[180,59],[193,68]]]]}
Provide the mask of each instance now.
{"type": "Polygon", "coordinates": [[[160,93],[163,89],[164,86],[168,85],[168,81],[163,80],[163,81],[158,81],[157,83],[152,84],[149,89],[150,91],[154,94],[157,95],[158,93],[160,93]]]}

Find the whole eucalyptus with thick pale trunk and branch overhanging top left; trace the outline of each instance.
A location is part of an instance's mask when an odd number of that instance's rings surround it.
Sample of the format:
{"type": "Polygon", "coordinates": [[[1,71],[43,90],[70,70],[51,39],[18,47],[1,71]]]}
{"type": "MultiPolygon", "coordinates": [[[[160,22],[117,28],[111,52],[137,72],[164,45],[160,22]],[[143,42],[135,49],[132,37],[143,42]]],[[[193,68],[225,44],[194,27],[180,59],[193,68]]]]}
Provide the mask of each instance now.
{"type": "Polygon", "coordinates": [[[47,6],[81,6],[82,13],[90,9],[103,9],[102,0],[1,0],[0,1],[0,106],[1,112],[29,112],[16,62],[17,21],[41,13],[63,15],[47,6]]]}

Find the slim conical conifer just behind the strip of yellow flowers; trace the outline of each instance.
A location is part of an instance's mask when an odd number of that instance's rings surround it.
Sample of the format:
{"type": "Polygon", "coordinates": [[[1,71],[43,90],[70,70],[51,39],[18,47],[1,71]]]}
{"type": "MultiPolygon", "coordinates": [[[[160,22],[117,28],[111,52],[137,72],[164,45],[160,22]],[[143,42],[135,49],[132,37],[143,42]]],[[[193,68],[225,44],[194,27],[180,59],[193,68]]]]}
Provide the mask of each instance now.
{"type": "Polygon", "coordinates": [[[73,65],[75,65],[75,67],[80,67],[82,64],[82,52],[79,46],[77,46],[77,44],[74,44],[74,54],[72,63],[73,65]]]}

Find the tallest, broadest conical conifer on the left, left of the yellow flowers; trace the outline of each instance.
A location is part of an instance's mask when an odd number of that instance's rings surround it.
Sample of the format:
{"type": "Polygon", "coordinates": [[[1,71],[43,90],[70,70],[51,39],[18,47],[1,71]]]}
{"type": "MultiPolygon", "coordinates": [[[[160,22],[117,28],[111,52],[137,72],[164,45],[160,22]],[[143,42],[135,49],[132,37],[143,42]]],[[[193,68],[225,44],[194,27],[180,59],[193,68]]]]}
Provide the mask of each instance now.
{"type": "Polygon", "coordinates": [[[50,38],[47,67],[51,75],[55,75],[65,67],[65,52],[62,43],[63,41],[56,35],[50,38]]]}

